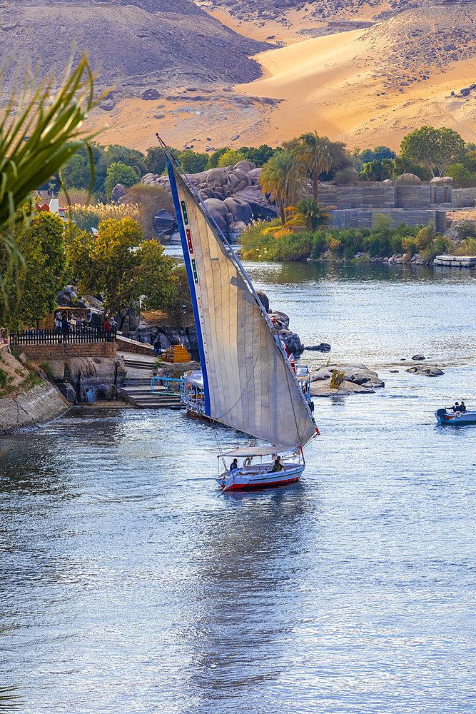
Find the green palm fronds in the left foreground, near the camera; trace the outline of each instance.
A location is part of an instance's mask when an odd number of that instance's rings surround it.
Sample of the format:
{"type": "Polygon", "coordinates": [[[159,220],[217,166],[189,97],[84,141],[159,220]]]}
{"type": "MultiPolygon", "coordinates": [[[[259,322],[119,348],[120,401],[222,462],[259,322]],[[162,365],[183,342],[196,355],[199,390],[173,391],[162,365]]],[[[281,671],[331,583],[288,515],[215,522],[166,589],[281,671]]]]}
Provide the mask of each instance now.
{"type": "Polygon", "coordinates": [[[68,71],[56,93],[53,79],[44,80],[36,90],[34,81],[26,76],[21,95],[11,97],[0,121],[0,303],[7,312],[6,284],[15,281],[23,260],[14,237],[16,211],[83,146],[88,149],[93,185],[89,142],[99,132],[86,134],[81,126],[103,96],[93,98],[86,58],[68,71]]]}

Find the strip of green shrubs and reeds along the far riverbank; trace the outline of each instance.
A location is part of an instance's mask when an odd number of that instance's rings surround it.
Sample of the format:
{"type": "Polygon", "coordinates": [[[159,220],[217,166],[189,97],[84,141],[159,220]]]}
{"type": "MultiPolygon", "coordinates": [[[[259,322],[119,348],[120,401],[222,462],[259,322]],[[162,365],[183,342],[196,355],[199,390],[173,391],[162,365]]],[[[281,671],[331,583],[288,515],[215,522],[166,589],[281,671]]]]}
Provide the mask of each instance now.
{"type": "Polygon", "coordinates": [[[435,231],[434,226],[398,226],[390,228],[387,216],[378,216],[374,228],[350,228],[337,231],[322,227],[318,231],[297,231],[283,228],[280,220],[260,221],[249,226],[241,236],[243,257],[270,261],[301,261],[306,258],[330,261],[365,261],[395,254],[410,260],[419,253],[430,261],[439,253],[471,252],[476,238],[467,238],[456,249],[452,241],[435,231]],[[361,253],[359,258],[355,255],[361,253]]]}

